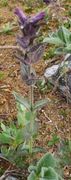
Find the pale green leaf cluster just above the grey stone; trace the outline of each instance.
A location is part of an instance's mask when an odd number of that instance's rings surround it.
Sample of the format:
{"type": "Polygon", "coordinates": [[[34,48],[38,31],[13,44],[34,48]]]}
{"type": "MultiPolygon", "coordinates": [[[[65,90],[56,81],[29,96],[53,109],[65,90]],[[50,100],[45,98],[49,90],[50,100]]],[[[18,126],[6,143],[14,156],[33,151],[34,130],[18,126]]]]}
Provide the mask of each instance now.
{"type": "Polygon", "coordinates": [[[56,54],[71,53],[71,32],[64,26],[60,27],[56,33],[46,37],[43,42],[59,47],[56,54]]]}

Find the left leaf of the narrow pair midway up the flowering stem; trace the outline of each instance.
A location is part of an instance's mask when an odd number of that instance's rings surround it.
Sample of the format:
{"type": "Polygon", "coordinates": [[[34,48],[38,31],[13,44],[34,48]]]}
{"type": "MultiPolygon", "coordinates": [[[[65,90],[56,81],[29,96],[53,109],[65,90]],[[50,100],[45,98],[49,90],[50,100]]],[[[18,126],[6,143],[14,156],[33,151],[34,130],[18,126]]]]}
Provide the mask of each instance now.
{"type": "Polygon", "coordinates": [[[19,102],[20,104],[23,104],[23,106],[26,107],[26,109],[30,110],[30,103],[28,102],[27,99],[23,98],[16,92],[14,92],[13,95],[17,102],[19,102]]]}

